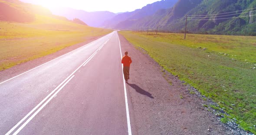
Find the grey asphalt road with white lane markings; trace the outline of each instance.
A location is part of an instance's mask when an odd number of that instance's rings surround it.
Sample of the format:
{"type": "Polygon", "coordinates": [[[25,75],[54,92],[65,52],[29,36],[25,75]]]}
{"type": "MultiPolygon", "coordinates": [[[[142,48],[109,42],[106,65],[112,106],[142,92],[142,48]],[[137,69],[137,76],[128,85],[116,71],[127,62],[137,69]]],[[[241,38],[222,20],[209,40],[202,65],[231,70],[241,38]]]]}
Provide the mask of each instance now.
{"type": "Polygon", "coordinates": [[[0,135],[131,135],[117,32],[0,83],[0,135]]]}

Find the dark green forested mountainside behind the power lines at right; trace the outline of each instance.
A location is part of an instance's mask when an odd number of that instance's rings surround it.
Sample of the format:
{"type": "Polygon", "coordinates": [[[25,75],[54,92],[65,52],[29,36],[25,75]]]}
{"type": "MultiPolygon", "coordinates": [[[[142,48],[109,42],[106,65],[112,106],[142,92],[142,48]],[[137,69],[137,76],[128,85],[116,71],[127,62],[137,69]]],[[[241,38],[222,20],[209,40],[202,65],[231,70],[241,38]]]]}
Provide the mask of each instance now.
{"type": "Polygon", "coordinates": [[[187,15],[190,33],[256,35],[256,0],[178,0],[170,9],[115,28],[154,30],[159,26],[161,31],[184,32],[187,15]]]}

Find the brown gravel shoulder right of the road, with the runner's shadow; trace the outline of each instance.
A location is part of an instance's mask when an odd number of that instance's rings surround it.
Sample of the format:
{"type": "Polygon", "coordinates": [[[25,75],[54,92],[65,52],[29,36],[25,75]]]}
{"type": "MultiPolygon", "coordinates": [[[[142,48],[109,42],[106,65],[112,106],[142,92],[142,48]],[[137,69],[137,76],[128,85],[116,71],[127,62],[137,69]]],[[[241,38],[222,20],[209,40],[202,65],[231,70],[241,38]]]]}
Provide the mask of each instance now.
{"type": "Polygon", "coordinates": [[[119,38],[122,52],[133,61],[126,87],[138,135],[233,135],[177,77],[168,77],[170,85],[157,62],[119,38]]]}

